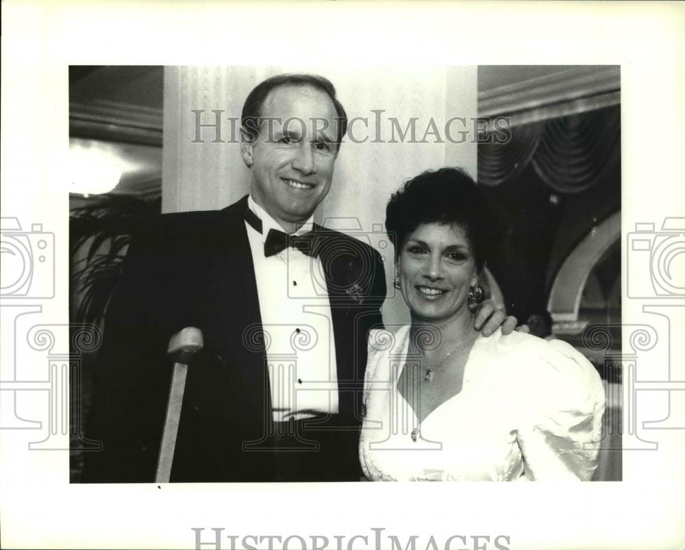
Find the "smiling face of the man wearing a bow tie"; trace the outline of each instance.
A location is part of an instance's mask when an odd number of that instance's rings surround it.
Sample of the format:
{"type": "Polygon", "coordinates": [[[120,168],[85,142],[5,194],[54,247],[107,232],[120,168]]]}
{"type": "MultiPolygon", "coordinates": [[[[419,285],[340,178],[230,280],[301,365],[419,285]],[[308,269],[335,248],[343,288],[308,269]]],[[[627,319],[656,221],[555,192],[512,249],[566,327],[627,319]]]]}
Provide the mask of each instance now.
{"type": "Polygon", "coordinates": [[[252,198],[286,231],[307,221],[331,187],[338,121],[333,101],[311,86],[279,86],[260,110],[257,138],[243,142],[252,198]]]}

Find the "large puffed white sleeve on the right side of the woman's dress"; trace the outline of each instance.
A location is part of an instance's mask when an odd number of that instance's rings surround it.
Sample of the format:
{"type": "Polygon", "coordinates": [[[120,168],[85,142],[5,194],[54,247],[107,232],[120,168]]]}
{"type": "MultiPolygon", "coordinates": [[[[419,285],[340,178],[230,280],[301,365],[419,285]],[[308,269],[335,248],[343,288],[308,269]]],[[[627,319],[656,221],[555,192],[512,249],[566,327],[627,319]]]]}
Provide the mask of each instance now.
{"type": "Polygon", "coordinates": [[[589,481],[597,467],[605,398],[599,374],[571,345],[536,347],[525,376],[517,439],[525,477],[589,481]]]}

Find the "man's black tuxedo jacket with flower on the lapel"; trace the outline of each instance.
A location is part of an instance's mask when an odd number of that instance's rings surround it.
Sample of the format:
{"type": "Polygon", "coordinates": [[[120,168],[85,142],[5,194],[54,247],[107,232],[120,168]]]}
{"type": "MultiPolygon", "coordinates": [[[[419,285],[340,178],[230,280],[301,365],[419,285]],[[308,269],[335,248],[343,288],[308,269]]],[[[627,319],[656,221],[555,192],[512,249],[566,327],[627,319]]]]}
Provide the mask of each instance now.
{"type": "MultiPolygon", "coordinates": [[[[188,326],[203,331],[205,346],[188,368],[171,481],[273,479],[273,453],[260,451],[271,392],[246,210],[247,196],[220,211],[164,214],[134,238],[93,377],[86,436],[103,448],[86,453],[83,482],[154,481],[173,368],[166,349],[188,326]]],[[[335,340],[340,460],[353,479],[366,339],[382,326],[385,273],[366,243],[315,230],[335,340]]]]}

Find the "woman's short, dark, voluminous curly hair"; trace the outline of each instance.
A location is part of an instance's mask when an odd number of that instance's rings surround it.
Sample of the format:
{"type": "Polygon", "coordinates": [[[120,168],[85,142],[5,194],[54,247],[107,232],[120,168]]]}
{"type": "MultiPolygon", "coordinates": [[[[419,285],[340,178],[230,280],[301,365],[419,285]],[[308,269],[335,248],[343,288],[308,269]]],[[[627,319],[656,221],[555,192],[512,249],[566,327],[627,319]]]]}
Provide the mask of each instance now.
{"type": "Polygon", "coordinates": [[[482,189],[462,168],[425,171],[390,197],[386,229],[399,257],[407,236],[423,223],[458,225],[466,232],[480,273],[499,243],[501,225],[482,189]]]}

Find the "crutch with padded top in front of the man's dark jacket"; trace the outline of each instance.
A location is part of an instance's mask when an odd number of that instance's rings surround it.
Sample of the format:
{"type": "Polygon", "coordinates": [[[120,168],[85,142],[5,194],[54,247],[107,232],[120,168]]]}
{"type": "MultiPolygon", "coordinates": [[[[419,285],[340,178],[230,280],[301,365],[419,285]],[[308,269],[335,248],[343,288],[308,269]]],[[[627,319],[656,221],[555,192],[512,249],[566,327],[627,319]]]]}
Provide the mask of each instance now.
{"type": "Polygon", "coordinates": [[[169,483],[173,453],[176,447],[176,436],[178,434],[178,423],[181,418],[183,393],[186,389],[188,364],[192,356],[200,351],[202,347],[202,331],[195,327],[186,327],[171,336],[169,340],[169,349],[166,353],[174,361],[174,365],[155,483],[169,483]]]}

